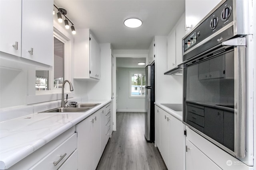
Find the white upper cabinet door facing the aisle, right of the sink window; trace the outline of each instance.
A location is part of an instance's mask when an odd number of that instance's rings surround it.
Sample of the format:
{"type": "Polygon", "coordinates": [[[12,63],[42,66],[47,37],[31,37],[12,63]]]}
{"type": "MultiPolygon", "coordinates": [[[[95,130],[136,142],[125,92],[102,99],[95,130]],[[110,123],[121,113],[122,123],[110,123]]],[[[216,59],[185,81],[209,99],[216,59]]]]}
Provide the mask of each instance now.
{"type": "Polygon", "coordinates": [[[96,39],[90,35],[90,77],[99,79],[100,46],[96,39]],[[98,69],[97,69],[98,67],[98,69]]]}

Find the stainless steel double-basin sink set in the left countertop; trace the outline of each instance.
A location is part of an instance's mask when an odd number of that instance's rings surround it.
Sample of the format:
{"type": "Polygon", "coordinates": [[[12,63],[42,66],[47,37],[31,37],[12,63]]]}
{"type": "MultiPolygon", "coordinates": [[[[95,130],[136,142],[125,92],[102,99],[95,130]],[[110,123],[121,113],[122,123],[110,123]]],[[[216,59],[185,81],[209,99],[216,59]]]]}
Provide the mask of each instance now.
{"type": "Polygon", "coordinates": [[[66,107],[57,107],[54,109],[42,111],[39,113],[77,113],[77,112],[85,112],[92,109],[95,106],[98,106],[100,103],[80,103],[80,104],[73,104],[66,107]]]}

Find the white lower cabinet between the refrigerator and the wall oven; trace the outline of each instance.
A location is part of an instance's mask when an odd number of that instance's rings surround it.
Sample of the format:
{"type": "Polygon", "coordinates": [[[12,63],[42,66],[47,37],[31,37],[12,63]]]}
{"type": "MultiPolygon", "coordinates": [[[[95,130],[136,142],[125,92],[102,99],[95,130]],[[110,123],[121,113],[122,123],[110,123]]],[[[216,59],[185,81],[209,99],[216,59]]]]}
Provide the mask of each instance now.
{"type": "MultiPolygon", "coordinates": [[[[157,111],[155,121],[160,119],[160,153],[162,158],[169,170],[185,170],[184,125],[182,121],[160,107],[156,106],[155,108],[157,111]]],[[[155,139],[158,136],[155,136],[155,139]]]]}

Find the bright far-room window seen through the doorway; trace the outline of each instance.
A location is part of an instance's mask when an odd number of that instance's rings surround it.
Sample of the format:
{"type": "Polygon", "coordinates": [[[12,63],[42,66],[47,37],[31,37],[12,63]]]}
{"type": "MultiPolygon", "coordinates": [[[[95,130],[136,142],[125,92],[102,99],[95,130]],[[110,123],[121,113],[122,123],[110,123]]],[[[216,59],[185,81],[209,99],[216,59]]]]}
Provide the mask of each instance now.
{"type": "Polygon", "coordinates": [[[145,74],[130,72],[130,97],[144,98],[145,74]]]}

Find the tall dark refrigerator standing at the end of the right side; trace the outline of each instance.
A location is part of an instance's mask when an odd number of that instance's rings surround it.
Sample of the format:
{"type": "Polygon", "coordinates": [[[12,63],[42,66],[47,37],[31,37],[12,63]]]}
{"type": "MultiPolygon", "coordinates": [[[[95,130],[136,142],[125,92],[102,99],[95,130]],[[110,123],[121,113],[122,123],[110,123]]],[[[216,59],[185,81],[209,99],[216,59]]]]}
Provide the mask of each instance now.
{"type": "Polygon", "coordinates": [[[155,64],[145,68],[145,138],[148,142],[155,141],[155,64]]]}

